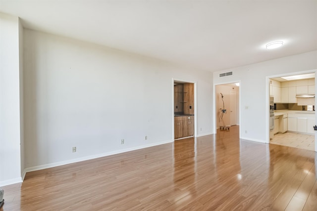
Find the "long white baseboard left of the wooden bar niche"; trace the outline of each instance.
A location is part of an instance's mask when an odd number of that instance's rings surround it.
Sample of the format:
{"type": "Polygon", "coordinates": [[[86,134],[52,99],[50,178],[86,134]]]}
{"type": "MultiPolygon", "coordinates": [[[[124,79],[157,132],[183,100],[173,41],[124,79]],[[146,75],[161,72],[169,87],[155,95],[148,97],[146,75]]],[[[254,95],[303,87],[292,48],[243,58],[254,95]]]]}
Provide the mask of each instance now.
{"type": "Polygon", "coordinates": [[[137,146],[137,147],[131,147],[131,148],[127,148],[127,149],[117,150],[117,151],[106,152],[106,153],[97,154],[97,155],[86,156],[86,157],[82,157],[82,158],[71,159],[71,160],[67,160],[67,161],[61,161],[61,162],[56,162],[56,163],[51,163],[51,164],[29,167],[29,168],[24,169],[24,171],[23,171],[23,180],[24,180],[25,174],[27,172],[30,172],[30,171],[48,169],[48,168],[63,166],[63,165],[67,165],[67,164],[73,164],[73,163],[77,163],[77,162],[81,162],[81,161],[87,161],[87,160],[92,160],[92,159],[96,159],[96,158],[106,157],[109,155],[115,155],[115,154],[119,154],[119,153],[129,152],[129,151],[143,149],[143,148],[152,147],[152,146],[157,146],[157,145],[161,145],[161,144],[166,144],[166,143],[170,143],[173,141],[174,140],[167,140],[167,141],[156,142],[156,143],[152,143],[152,144],[146,144],[146,145],[141,145],[141,146],[137,146]]]}

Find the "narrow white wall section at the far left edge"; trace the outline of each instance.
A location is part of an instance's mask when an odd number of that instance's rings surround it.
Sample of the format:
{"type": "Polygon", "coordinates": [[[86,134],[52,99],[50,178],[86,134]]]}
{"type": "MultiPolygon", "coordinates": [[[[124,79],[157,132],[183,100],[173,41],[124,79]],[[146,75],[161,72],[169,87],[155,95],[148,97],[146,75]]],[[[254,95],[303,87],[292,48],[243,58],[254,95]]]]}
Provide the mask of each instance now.
{"type": "Polygon", "coordinates": [[[19,20],[0,13],[0,186],[21,181],[19,20]]]}

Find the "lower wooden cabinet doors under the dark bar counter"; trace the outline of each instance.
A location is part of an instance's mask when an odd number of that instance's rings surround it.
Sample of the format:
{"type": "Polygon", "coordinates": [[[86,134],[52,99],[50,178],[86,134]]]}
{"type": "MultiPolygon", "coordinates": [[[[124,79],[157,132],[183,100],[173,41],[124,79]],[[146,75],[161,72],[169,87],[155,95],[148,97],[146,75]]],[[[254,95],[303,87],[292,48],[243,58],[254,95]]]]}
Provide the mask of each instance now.
{"type": "Polygon", "coordinates": [[[194,136],[194,116],[181,116],[174,118],[174,138],[194,136]]]}

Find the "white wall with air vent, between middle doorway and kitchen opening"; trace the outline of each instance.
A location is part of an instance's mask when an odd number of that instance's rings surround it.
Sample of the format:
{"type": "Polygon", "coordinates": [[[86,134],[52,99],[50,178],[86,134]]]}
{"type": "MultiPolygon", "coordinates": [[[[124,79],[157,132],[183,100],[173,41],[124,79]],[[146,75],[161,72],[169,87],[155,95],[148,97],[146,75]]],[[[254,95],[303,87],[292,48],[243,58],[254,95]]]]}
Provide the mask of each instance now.
{"type": "Polygon", "coordinates": [[[267,77],[314,69],[317,69],[317,51],[214,72],[213,83],[228,84],[233,81],[240,81],[240,137],[267,142],[267,77]],[[233,72],[232,76],[219,78],[220,73],[231,71],[233,72]],[[246,106],[248,109],[245,109],[246,106]]]}

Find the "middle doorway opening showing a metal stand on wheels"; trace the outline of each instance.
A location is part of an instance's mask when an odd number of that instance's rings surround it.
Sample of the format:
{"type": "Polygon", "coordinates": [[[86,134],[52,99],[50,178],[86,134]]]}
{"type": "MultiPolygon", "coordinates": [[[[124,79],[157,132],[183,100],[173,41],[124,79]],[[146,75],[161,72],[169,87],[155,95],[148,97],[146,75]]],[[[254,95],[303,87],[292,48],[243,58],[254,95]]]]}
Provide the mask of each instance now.
{"type": "Polygon", "coordinates": [[[239,125],[239,86],[238,82],[215,85],[215,131],[239,125]]]}

